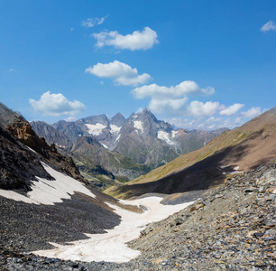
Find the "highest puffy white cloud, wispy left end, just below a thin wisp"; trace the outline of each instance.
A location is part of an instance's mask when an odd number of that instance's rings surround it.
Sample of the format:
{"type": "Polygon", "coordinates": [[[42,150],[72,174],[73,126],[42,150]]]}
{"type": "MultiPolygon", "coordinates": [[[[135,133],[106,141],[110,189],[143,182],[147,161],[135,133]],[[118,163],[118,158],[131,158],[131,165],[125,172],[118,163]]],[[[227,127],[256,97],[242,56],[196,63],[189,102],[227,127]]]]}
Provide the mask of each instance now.
{"type": "Polygon", "coordinates": [[[145,27],[142,32],[134,31],[131,34],[122,35],[117,31],[91,34],[97,39],[97,47],[115,46],[117,49],[148,50],[158,43],[157,33],[150,27],[145,27]]]}

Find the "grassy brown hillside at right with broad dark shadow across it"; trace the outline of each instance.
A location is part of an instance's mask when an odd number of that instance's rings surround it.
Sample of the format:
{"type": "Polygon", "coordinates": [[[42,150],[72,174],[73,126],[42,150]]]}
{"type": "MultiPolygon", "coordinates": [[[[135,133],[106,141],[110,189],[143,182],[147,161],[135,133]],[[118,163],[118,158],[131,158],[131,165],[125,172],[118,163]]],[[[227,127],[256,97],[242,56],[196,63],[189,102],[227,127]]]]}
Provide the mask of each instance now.
{"type": "Polygon", "coordinates": [[[106,193],[118,198],[147,192],[188,192],[223,182],[226,173],[248,171],[276,156],[276,107],[231,131],[217,136],[198,151],[152,170],[130,185],[106,193]],[[238,168],[237,168],[238,167],[238,168]]]}

